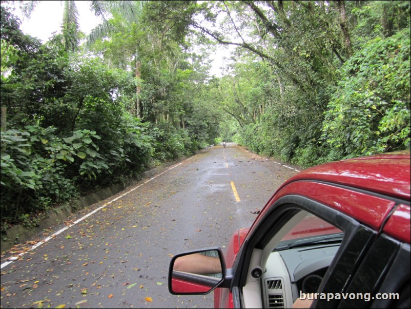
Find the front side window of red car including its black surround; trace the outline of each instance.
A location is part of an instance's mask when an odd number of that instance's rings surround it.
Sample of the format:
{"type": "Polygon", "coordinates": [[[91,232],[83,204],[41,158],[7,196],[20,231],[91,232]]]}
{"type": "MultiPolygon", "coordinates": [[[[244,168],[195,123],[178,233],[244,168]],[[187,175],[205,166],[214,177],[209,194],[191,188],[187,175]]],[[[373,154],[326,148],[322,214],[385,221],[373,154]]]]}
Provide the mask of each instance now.
{"type": "MultiPolygon", "coordinates": [[[[354,199],[357,192],[349,194],[354,199]]],[[[306,293],[341,293],[377,233],[326,204],[284,196],[268,207],[245,239],[232,286],[239,287],[241,306],[253,308],[291,308],[306,293]]],[[[337,307],[339,302],[312,304],[337,307]]]]}

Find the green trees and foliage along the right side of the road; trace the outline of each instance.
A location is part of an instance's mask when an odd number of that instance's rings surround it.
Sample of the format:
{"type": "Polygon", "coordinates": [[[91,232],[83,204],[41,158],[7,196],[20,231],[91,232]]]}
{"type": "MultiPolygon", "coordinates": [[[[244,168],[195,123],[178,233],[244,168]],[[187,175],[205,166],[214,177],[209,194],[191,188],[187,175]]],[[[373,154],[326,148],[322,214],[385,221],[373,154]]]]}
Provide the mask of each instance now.
{"type": "Polygon", "coordinates": [[[409,1],[199,10],[222,26],[196,29],[241,47],[216,100],[238,122],[237,142],[303,167],[409,148],[409,1]]]}

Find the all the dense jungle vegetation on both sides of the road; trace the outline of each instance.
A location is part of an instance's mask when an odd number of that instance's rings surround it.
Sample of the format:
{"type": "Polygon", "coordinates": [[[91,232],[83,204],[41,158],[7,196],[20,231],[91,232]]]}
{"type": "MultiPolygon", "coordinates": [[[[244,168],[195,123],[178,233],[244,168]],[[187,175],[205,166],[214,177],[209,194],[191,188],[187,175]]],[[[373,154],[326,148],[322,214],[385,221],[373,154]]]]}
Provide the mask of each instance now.
{"type": "Polygon", "coordinates": [[[222,140],[308,167],[410,147],[409,1],[1,4],[2,229],[222,140]],[[231,46],[222,77],[216,46],[231,46]]]}

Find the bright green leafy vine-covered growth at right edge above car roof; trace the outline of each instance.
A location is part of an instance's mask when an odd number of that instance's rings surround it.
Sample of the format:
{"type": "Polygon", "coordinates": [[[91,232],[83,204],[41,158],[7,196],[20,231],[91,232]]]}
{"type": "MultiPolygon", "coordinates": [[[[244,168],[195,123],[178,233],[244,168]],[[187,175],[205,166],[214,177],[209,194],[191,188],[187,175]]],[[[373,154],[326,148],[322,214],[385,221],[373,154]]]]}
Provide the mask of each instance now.
{"type": "Polygon", "coordinates": [[[409,148],[409,36],[375,38],[344,65],[323,124],[331,159],[409,148]]]}

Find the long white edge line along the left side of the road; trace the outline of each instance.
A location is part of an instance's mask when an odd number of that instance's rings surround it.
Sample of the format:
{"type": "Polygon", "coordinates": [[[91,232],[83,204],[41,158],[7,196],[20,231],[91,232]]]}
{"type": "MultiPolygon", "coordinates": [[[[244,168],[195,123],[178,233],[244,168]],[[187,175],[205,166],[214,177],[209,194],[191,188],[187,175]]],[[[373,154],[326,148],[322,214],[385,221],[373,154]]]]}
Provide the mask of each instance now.
{"type": "MultiPolygon", "coordinates": [[[[208,149],[206,149],[206,150],[208,150],[208,149]]],[[[206,151],[206,150],[204,150],[204,151],[206,151]]],[[[202,152],[204,152],[204,151],[201,151],[200,153],[202,153],[202,152]]],[[[195,156],[192,156],[192,157],[190,157],[190,158],[187,159],[187,160],[184,160],[184,161],[182,161],[182,162],[180,162],[180,163],[177,163],[177,164],[173,165],[172,167],[170,167],[170,168],[166,169],[165,171],[159,173],[158,175],[154,176],[153,178],[151,178],[151,179],[149,179],[149,180],[146,180],[145,182],[143,182],[143,183],[135,186],[135,187],[132,188],[131,190],[127,191],[125,194],[122,194],[122,195],[120,195],[119,197],[116,197],[115,199],[111,200],[110,202],[107,202],[107,203],[105,203],[104,205],[102,205],[102,206],[94,209],[93,211],[91,211],[91,213],[85,215],[84,217],[81,217],[80,219],[74,221],[73,223],[67,225],[66,227],[64,227],[64,228],[56,231],[56,233],[54,233],[53,235],[45,238],[44,240],[39,241],[38,243],[36,243],[35,245],[33,245],[30,249],[27,249],[25,252],[22,252],[22,253],[18,254],[17,256],[12,256],[12,257],[8,258],[8,259],[7,259],[7,262],[4,262],[3,264],[1,264],[0,269],[2,269],[3,267],[5,267],[5,266],[7,266],[7,265],[9,265],[9,264],[11,264],[11,263],[13,263],[15,260],[17,260],[18,258],[24,256],[26,253],[34,250],[35,248],[37,248],[37,247],[45,244],[45,243],[48,242],[50,239],[52,239],[52,238],[56,237],[57,235],[63,233],[65,230],[69,229],[69,228],[72,227],[73,225],[76,225],[77,223],[79,223],[79,222],[83,221],[84,219],[90,217],[91,215],[97,213],[97,211],[99,211],[100,209],[102,209],[102,208],[106,207],[107,205],[109,205],[109,204],[111,204],[111,203],[113,203],[113,202],[121,199],[122,197],[125,197],[126,195],[128,195],[129,193],[131,193],[131,192],[133,192],[134,190],[138,189],[139,187],[141,187],[141,186],[145,185],[146,183],[148,183],[148,182],[156,179],[157,177],[159,177],[159,176],[163,175],[164,173],[172,170],[173,168],[176,168],[177,166],[183,164],[184,162],[187,162],[187,161],[193,159],[194,157],[198,156],[198,154],[200,154],[200,153],[197,153],[197,154],[195,154],[195,156]]]]}

